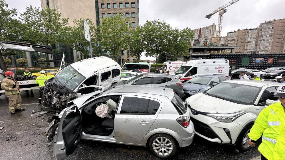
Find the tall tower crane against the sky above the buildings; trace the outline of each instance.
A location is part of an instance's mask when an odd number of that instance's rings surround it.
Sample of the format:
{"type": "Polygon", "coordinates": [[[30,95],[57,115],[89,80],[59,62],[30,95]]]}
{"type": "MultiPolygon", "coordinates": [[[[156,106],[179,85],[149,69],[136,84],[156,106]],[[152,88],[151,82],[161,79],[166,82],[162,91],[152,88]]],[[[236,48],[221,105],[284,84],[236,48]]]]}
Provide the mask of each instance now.
{"type": "Polygon", "coordinates": [[[212,17],[212,15],[214,15],[217,12],[219,13],[219,20],[218,20],[218,43],[220,41],[220,37],[222,36],[222,23],[223,23],[223,14],[227,12],[227,10],[225,8],[229,7],[230,5],[236,3],[239,0],[233,0],[230,1],[229,3],[223,5],[222,7],[219,7],[217,9],[215,9],[212,13],[210,13],[209,15],[206,15],[205,18],[210,19],[212,17]]]}

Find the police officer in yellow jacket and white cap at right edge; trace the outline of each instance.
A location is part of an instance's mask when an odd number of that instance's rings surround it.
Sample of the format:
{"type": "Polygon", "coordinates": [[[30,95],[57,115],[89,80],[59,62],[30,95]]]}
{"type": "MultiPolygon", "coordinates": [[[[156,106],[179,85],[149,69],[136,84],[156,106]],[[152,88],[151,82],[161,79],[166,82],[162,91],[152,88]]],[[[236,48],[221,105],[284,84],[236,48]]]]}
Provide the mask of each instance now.
{"type": "Polygon", "coordinates": [[[285,85],[277,88],[274,97],[280,102],[264,108],[248,133],[247,142],[251,147],[262,135],[258,147],[261,159],[285,159],[285,85]]]}

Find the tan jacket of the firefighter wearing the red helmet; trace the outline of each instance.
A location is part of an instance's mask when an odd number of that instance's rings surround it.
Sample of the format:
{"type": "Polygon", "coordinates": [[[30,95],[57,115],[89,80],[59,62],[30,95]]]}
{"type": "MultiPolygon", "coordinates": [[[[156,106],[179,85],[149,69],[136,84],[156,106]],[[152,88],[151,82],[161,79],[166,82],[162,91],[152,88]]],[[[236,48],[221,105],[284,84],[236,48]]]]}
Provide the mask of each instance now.
{"type": "Polygon", "coordinates": [[[17,91],[16,88],[19,88],[19,83],[14,78],[6,77],[1,82],[1,88],[5,91],[5,95],[15,95],[20,93],[20,91],[17,91]],[[16,85],[16,87],[13,89],[13,85],[16,85]]]}

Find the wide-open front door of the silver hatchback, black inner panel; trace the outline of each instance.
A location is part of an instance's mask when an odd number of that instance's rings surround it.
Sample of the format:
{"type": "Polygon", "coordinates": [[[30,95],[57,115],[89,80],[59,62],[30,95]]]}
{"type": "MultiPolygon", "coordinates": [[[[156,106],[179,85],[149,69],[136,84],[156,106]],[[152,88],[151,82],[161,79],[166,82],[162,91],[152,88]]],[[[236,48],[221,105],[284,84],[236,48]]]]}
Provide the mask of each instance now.
{"type": "Polygon", "coordinates": [[[52,142],[54,159],[64,159],[74,152],[82,136],[82,121],[76,105],[68,107],[62,114],[57,134],[52,142]]]}

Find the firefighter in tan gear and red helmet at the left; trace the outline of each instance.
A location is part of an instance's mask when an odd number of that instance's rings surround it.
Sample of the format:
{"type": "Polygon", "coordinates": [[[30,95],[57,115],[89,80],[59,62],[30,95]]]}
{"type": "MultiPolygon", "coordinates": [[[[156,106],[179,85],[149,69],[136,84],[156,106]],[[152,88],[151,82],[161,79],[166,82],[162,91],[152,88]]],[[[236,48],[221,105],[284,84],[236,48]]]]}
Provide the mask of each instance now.
{"type": "Polygon", "coordinates": [[[24,111],[25,109],[21,108],[19,83],[14,79],[14,73],[7,71],[5,76],[6,78],[1,82],[1,88],[5,90],[5,95],[9,98],[9,112],[15,114],[15,112],[24,111]]]}

